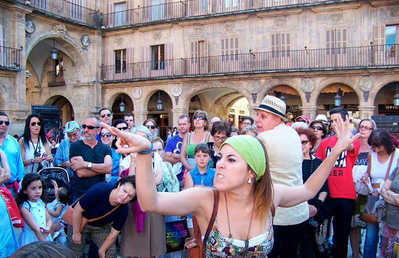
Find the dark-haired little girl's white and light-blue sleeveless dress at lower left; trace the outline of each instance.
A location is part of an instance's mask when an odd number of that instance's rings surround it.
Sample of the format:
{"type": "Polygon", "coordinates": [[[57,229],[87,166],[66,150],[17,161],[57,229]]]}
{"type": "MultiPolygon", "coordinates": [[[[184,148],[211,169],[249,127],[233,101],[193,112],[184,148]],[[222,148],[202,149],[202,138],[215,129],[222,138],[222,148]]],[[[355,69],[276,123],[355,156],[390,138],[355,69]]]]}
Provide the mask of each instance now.
{"type": "MultiPolygon", "coordinates": [[[[22,207],[28,209],[38,227],[46,227],[46,208],[41,199],[38,199],[36,202],[25,201],[23,202],[22,207]]],[[[37,241],[39,240],[33,230],[25,222],[25,227],[22,228],[22,233],[19,235],[19,247],[37,241]]],[[[48,234],[46,241],[53,241],[50,234],[48,234]]]]}

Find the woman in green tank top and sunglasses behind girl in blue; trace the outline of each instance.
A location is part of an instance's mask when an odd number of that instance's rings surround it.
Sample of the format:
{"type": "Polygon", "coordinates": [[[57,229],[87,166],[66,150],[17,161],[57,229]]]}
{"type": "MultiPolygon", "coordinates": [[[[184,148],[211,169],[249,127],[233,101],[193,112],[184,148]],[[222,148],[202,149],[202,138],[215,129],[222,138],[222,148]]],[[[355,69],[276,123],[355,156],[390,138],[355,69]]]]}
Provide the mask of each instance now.
{"type": "Polygon", "coordinates": [[[208,132],[208,121],[208,113],[202,110],[197,110],[193,115],[192,124],[194,132],[189,132],[184,136],[182,148],[180,149],[180,160],[187,171],[193,170],[196,166],[194,150],[197,145],[213,141],[212,135],[208,132]]]}

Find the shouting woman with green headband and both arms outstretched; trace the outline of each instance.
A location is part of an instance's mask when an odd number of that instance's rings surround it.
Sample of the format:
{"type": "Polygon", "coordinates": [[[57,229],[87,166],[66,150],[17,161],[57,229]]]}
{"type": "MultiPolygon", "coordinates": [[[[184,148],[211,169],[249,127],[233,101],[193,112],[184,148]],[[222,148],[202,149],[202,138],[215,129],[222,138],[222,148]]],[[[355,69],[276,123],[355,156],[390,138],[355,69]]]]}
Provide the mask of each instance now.
{"type": "MultiPolygon", "coordinates": [[[[119,136],[121,153],[138,152],[137,197],[143,210],[165,215],[196,216],[204,236],[213,211],[209,188],[193,187],[177,193],[157,192],[152,174],[151,143],[144,137],[102,124],[119,136]],[[140,156],[140,157],[139,157],[140,156]]],[[[211,233],[205,237],[206,257],[266,257],[273,245],[273,207],[291,207],[313,198],[326,181],[341,152],[359,137],[351,136],[349,119],[338,123],[338,142],[304,185],[272,185],[267,154],[255,137],[229,137],[220,146],[214,187],[218,205],[211,233]]],[[[289,157],[287,157],[289,159],[289,157]]]]}

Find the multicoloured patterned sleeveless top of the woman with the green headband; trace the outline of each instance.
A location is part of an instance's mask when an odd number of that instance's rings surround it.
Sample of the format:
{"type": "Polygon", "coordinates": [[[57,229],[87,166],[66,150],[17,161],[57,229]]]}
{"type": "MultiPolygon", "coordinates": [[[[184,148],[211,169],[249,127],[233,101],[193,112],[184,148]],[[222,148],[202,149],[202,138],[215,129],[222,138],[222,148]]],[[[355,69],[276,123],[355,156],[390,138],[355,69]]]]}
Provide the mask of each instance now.
{"type": "Polygon", "coordinates": [[[242,240],[233,239],[231,247],[234,248],[234,255],[230,253],[229,239],[224,238],[217,229],[217,216],[206,240],[206,257],[267,257],[270,253],[274,239],[273,239],[273,225],[272,218],[269,215],[269,229],[267,232],[249,239],[249,247],[244,255],[245,243],[242,240]]]}

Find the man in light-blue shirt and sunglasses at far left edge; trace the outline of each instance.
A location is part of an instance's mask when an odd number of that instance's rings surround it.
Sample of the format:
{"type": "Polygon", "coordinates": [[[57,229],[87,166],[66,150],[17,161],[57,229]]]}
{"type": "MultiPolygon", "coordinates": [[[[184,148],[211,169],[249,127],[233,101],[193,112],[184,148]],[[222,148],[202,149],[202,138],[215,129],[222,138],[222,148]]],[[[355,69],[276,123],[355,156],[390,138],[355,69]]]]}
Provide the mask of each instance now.
{"type": "Polygon", "coordinates": [[[4,185],[15,198],[19,188],[18,183],[25,175],[25,170],[23,169],[21,149],[15,138],[7,133],[8,126],[9,119],[7,114],[0,112],[0,149],[5,152],[11,171],[11,179],[6,181],[4,185]]]}

